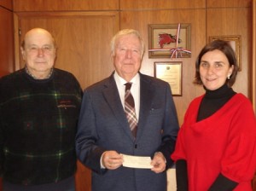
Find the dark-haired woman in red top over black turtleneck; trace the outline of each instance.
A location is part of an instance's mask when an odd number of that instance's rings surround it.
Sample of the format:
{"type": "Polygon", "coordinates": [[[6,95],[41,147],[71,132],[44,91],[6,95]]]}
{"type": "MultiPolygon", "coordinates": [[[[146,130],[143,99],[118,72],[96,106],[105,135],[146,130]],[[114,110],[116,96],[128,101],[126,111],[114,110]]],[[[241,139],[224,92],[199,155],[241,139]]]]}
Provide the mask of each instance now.
{"type": "Polygon", "coordinates": [[[256,169],[256,119],[251,102],[231,86],[236,53],[216,40],[201,49],[194,84],[206,93],[189,104],[177,136],[177,190],[249,191],[256,169]]]}

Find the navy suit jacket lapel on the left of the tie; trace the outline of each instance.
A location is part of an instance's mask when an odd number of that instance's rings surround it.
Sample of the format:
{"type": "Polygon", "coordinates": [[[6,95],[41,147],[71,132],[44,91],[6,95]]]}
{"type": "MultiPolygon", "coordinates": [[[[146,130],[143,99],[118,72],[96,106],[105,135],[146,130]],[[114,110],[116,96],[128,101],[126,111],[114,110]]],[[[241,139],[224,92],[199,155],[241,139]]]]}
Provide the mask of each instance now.
{"type": "Polygon", "coordinates": [[[131,134],[131,129],[125,116],[124,107],[120,101],[119,91],[114,81],[113,74],[109,77],[108,82],[105,84],[102,94],[108,102],[113,115],[119,121],[119,126],[123,128],[125,133],[128,134],[128,136],[130,136],[133,140],[134,138],[131,134]]]}

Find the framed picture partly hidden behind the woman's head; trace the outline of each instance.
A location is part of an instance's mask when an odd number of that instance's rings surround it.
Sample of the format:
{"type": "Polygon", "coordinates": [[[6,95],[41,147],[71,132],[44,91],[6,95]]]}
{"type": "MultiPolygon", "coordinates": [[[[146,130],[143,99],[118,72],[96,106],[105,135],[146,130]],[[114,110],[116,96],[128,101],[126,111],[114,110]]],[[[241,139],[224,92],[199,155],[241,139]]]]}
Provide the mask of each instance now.
{"type": "Polygon", "coordinates": [[[213,40],[217,40],[217,39],[228,41],[230,43],[230,46],[236,52],[237,64],[239,67],[239,71],[241,71],[241,36],[237,35],[237,36],[212,36],[212,37],[209,37],[210,42],[212,42],[213,40]]]}

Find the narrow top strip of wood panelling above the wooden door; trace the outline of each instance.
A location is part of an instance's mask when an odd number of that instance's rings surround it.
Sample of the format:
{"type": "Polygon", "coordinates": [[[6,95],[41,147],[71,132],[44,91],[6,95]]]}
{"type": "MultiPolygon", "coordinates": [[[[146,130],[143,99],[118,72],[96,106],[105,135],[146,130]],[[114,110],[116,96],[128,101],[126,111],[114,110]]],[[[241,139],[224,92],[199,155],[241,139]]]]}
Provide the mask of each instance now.
{"type": "Polygon", "coordinates": [[[119,0],[13,0],[14,11],[117,10],[119,0]]]}

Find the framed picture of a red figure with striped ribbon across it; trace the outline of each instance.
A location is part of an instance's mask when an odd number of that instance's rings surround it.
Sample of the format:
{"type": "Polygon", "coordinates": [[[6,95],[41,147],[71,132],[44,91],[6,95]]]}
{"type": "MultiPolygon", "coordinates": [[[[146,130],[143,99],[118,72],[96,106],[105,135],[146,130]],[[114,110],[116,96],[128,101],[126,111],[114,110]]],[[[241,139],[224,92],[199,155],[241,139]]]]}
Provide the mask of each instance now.
{"type": "MultiPolygon", "coordinates": [[[[178,24],[148,25],[148,49],[163,49],[162,51],[149,51],[149,58],[170,58],[172,53],[169,49],[177,47],[191,49],[191,25],[181,24],[178,35],[177,27],[178,24]],[[177,36],[178,39],[176,39],[177,36]]],[[[191,55],[184,52],[182,53],[182,57],[189,58],[191,55]]]]}

